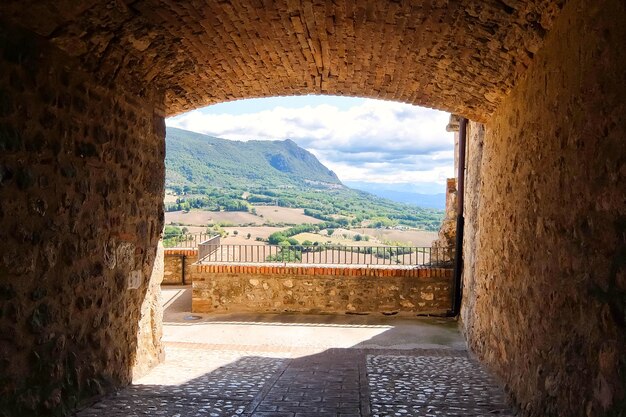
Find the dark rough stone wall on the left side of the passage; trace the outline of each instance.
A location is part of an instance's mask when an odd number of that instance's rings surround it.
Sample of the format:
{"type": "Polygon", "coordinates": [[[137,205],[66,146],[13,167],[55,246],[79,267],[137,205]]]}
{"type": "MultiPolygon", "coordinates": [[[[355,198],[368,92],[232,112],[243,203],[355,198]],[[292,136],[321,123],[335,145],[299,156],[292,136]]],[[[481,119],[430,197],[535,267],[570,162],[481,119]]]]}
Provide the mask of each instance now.
{"type": "Polygon", "coordinates": [[[59,415],[131,378],[163,227],[162,97],[6,24],[0,68],[0,415],[59,415]]]}

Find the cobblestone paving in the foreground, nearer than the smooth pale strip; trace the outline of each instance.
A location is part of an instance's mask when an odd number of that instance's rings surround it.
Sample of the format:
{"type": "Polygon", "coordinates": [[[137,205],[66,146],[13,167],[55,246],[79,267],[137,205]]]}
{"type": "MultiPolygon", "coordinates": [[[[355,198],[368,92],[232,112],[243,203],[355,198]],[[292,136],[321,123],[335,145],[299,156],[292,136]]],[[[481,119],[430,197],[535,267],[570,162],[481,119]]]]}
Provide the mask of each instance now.
{"type": "Polygon", "coordinates": [[[168,345],[167,361],[78,417],[512,416],[459,350],[302,352],[168,345]]]}

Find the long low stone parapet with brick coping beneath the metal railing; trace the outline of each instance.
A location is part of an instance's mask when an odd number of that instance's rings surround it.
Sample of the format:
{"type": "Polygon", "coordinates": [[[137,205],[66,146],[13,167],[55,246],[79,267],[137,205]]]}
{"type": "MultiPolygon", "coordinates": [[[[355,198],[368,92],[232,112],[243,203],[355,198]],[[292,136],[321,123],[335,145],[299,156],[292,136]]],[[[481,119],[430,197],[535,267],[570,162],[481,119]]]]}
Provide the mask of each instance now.
{"type": "Polygon", "coordinates": [[[209,312],[432,313],[451,308],[450,269],[198,265],[192,309],[209,312]]]}

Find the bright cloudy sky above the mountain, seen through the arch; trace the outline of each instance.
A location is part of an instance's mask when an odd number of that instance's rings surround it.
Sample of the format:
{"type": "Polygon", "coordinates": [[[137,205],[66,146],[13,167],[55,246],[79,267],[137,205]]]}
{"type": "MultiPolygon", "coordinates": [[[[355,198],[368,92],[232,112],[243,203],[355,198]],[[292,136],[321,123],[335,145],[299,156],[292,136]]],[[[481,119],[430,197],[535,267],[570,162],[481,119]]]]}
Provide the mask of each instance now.
{"type": "Polygon", "coordinates": [[[166,123],[224,139],[292,139],[344,182],[441,193],[453,176],[448,117],[390,101],[298,96],[217,104],[166,123]]]}

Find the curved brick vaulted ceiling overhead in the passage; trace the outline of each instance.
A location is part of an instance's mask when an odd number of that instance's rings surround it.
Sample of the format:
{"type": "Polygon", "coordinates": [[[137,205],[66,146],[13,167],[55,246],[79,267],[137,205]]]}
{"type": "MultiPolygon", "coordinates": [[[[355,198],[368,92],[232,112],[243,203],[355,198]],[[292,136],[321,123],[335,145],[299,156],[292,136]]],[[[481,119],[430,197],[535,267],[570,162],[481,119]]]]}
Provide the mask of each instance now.
{"type": "Polygon", "coordinates": [[[565,0],[9,0],[0,19],[174,115],[239,98],[377,97],[485,120],[565,0]],[[77,4],[80,3],[79,6],[77,4]]]}

